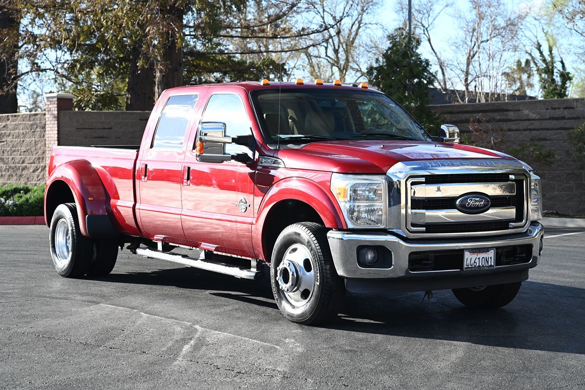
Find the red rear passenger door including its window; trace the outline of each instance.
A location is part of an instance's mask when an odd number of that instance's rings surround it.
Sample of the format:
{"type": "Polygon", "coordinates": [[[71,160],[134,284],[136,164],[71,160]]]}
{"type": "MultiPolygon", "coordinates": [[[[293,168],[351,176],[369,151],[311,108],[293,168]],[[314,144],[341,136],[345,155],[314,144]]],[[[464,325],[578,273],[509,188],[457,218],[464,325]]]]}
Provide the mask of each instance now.
{"type": "Polygon", "coordinates": [[[185,134],[194,122],[197,94],[169,96],[137,163],[137,213],[144,236],[183,243],[181,225],[182,166],[185,134]]]}

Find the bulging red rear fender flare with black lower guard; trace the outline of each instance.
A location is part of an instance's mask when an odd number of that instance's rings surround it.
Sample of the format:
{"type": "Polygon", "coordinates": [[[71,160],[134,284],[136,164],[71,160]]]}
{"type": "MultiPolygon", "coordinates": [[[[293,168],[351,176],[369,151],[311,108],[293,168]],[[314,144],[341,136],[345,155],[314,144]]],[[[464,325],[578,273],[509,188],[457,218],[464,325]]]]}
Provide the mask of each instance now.
{"type": "Polygon", "coordinates": [[[47,195],[57,181],[67,184],[73,193],[81,234],[92,238],[113,237],[118,234],[109,219],[109,198],[104,191],[104,184],[97,170],[87,160],[68,161],[51,172],[44,194],[44,218],[47,226],[52,217],[47,215],[47,195]]]}

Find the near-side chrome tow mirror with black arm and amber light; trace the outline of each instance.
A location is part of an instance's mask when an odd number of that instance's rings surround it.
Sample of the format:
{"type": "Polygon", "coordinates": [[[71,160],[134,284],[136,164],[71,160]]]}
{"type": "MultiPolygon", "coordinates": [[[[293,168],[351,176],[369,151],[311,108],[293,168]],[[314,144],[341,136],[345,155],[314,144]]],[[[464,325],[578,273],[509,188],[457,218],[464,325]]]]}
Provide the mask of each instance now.
{"type": "Polygon", "coordinates": [[[195,155],[197,161],[204,163],[223,163],[223,161],[239,161],[243,164],[250,164],[254,160],[246,153],[229,154],[225,151],[226,144],[237,144],[248,147],[254,153],[256,141],[252,134],[247,136],[226,137],[225,123],[223,122],[201,122],[199,125],[199,136],[195,144],[195,155]]]}

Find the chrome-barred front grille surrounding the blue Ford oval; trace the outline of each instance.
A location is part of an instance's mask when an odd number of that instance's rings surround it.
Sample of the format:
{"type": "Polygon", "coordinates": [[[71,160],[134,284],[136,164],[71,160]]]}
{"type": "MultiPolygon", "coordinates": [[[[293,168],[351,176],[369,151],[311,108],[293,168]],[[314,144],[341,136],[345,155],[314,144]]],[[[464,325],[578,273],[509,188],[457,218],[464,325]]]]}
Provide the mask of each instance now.
{"type": "Polygon", "coordinates": [[[528,177],[525,174],[435,174],[405,181],[406,229],[411,233],[503,233],[526,225],[528,177]],[[455,206],[466,194],[487,195],[488,210],[469,214],[455,206]]]}

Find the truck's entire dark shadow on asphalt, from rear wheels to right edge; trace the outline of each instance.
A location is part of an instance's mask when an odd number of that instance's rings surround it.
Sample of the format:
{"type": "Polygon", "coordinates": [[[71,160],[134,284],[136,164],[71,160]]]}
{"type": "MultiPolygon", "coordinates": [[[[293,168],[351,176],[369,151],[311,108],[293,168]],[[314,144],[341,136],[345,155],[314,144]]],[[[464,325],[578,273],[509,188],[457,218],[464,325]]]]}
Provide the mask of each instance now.
{"type": "MultiPolygon", "coordinates": [[[[192,268],[111,274],[115,283],[174,286],[267,310],[278,310],[270,284],[234,279],[192,268]]],[[[463,307],[450,291],[436,291],[427,305],[422,292],[386,295],[347,294],[340,315],[321,329],[462,341],[491,347],[585,354],[585,289],[534,281],[522,284],[517,298],[502,309],[463,307]]],[[[283,326],[295,326],[283,318],[283,326]]],[[[325,335],[324,335],[325,336],[325,335]]]]}

